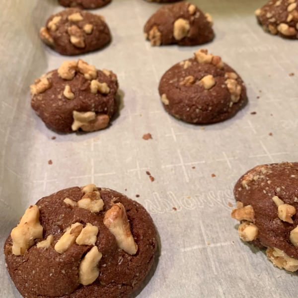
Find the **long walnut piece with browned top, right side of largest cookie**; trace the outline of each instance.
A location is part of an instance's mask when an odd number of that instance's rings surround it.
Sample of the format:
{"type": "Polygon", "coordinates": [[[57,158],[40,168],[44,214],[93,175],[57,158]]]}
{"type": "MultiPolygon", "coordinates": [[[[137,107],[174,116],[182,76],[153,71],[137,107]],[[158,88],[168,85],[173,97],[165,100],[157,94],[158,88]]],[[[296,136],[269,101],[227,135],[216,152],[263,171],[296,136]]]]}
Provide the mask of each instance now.
{"type": "Polygon", "coordinates": [[[126,210],[121,203],[114,204],[106,212],[103,223],[115,236],[119,248],[131,255],[137,253],[138,245],[132,235],[126,210]]]}

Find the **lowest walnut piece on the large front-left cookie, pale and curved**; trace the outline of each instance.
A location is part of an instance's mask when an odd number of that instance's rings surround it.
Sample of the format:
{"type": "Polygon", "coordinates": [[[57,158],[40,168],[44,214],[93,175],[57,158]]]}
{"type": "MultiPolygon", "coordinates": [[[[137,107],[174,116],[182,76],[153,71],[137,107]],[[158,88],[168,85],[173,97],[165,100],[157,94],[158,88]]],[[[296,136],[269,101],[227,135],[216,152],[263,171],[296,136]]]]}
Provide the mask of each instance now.
{"type": "Polygon", "coordinates": [[[78,282],[83,286],[92,284],[99,276],[98,263],[102,253],[93,246],[80,261],[78,266],[78,282]]]}

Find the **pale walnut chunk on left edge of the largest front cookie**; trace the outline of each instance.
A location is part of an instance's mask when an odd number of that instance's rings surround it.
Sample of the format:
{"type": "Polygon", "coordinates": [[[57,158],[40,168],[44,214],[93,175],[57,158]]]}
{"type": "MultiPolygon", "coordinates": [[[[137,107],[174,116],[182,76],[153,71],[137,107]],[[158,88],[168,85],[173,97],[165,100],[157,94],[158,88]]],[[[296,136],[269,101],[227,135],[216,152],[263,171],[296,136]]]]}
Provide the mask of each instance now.
{"type": "Polygon", "coordinates": [[[12,253],[16,256],[24,254],[34,245],[34,239],[42,239],[43,227],[39,222],[39,209],[36,205],[30,206],[20,223],[12,229],[12,253]]]}

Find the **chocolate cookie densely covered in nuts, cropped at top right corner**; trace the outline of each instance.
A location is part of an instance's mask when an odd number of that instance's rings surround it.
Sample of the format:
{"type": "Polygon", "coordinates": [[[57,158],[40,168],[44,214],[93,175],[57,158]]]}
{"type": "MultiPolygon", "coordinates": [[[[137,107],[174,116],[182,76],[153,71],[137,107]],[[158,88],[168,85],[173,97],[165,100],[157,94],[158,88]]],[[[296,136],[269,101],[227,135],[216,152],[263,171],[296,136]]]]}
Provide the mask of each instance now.
{"type": "Polygon", "coordinates": [[[297,0],[271,0],[255,14],[263,29],[284,38],[298,39],[297,0]]]}

